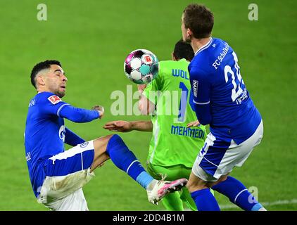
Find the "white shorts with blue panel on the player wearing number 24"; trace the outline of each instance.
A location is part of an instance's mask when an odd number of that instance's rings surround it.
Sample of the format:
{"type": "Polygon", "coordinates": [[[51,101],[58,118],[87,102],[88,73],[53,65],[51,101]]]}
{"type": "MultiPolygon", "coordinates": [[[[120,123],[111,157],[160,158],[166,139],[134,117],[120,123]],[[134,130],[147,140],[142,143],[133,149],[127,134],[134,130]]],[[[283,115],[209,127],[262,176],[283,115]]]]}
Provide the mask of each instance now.
{"type": "Polygon", "coordinates": [[[232,172],[234,167],[241,167],[262,138],[262,121],[255,133],[239,145],[234,140],[228,142],[217,139],[210,133],[194,162],[192,172],[203,181],[215,182],[220,176],[232,172]]]}

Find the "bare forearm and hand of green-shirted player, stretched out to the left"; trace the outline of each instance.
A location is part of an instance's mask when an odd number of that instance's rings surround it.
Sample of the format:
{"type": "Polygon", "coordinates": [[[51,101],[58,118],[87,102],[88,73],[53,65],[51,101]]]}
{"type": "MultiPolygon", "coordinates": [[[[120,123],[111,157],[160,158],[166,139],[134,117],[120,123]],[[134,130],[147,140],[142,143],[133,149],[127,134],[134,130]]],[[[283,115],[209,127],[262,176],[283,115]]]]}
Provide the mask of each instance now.
{"type": "Polygon", "coordinates": [[[104,129],[109,131],[129,132],[129,131],[153,131],[153,123],[147,121],[112,121],[103,126],[104,129]]]}

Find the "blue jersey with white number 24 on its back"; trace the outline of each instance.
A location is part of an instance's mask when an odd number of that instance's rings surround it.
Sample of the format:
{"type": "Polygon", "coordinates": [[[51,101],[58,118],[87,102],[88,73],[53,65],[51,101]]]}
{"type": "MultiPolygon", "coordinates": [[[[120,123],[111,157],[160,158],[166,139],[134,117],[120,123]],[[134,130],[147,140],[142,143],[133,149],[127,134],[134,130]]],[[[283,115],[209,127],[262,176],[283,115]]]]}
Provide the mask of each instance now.
{"type": "Polygon", "coordinates": [[[196,115],[210,132],[237,144],[261,121],[241,77],[236,53],[221,39],[210,38],[189,64],[196,115]]]}

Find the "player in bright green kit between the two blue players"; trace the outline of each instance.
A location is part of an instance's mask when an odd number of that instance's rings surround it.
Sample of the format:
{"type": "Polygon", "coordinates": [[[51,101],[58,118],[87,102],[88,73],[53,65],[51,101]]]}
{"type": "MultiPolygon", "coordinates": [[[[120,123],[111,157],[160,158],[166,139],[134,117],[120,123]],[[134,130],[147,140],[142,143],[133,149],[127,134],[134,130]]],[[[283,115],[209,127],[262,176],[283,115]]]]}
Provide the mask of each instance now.
{"type": "MultiPolygon", "coordinates": [[[[191,46],[178,41],[172,60],[160,61],[156,79],[147,86],[138,86],[139,110],[143,115],[152,115],[151,121],[113,121],[104,126],[110,131],[153,131],[147,167],[155,179],[189,178],[206,139],[206,127],[198,123],[191,105],[188,65],[193,57],[191,46]]],[[[166,195],[162,203],[167,210],[182,211],[183,203],[191,210],[197,209],[187,188],[166,195]]]]}

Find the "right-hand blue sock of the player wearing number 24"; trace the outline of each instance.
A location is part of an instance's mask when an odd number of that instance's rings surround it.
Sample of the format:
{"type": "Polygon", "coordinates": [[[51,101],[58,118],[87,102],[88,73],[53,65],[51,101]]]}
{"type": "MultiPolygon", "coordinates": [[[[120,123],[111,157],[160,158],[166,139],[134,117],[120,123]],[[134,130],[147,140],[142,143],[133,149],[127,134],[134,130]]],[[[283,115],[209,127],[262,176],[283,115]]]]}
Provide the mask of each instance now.
{"type": "Polygon", "coordinates": [[[228,176],[225,181],[212,187],[213,190],[227,196],[229,200],[246,211],[258,211],[263,207],[239,180],[228,176]]]}

